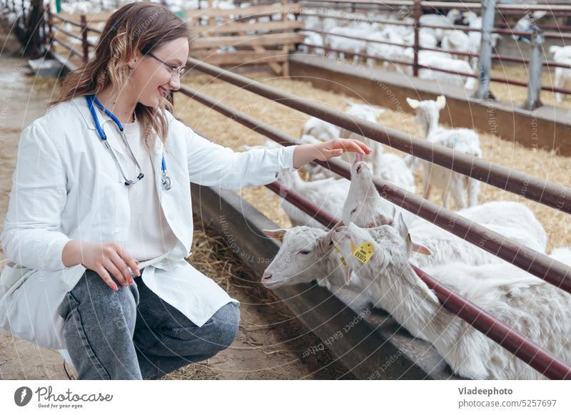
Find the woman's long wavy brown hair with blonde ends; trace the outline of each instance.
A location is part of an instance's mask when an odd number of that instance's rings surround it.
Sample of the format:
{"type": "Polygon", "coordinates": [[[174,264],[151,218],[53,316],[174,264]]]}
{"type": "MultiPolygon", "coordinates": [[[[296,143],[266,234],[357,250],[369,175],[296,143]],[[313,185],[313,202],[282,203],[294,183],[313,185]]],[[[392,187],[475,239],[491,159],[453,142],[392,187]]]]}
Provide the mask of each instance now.
{"type": "MultiPolygon", "coordinates": [[[[121,7],[109,17],[95,46],[94,57],[83,67],[67,74],[61,84],[59,98],[51,101],[49,106],[78,95],[97,94],[109,84],[113,94],[118,93],[128,82],[128,58],[136,51],[144,55],[163,43],[181,37],[186,37],[190,42],[191,31],[166,6],[138,2],[121,7]]],[[[166,144],[168,121],[165,111],[172,112],[173,106],[163,97],[157,108],[141,103],[136,105],[135,115],[143,127],[143,142],[148,148],[151,148],[156,136],[166,144]]]]}

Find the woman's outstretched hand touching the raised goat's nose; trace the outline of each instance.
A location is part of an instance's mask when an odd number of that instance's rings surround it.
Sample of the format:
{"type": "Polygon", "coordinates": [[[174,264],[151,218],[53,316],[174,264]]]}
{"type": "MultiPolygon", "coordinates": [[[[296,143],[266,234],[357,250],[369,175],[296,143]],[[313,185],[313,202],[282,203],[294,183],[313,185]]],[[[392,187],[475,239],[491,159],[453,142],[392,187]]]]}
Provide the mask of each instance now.
{"type": "Polygon", "coordinates": [[[300,168],[312,160],[327,161],[349,151],[370,154],[373,150],[353,138],[336,138],[318,144],[300,144],[293,151],[293,168],[300,168]]]}

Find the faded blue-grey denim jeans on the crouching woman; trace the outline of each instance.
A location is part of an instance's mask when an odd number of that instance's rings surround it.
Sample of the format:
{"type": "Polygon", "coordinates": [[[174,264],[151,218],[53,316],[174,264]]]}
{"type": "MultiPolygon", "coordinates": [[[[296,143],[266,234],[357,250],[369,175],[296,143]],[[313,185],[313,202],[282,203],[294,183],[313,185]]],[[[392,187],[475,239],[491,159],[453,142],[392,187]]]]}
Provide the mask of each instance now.
{"type": "Polygon", "coordinates": [[[116,292],[86,270],[59,306],[78,379],[158,379],[213,357],[236,336],[240,307],[234,302],[198,327],[141,277],[128,286],[113,280],[116,292]]]}

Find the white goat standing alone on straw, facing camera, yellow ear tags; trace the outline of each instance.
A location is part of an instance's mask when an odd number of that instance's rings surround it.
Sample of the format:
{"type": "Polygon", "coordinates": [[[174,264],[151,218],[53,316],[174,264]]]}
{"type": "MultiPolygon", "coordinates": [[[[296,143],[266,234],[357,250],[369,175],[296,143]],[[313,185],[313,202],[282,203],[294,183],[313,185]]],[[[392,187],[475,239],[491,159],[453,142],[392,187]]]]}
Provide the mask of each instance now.
{"type": "MultiPolygon", "coordinates": [[[[408,105],[416,111],[416,121],[425,130],[425,136],[430,143],[444,145],[455,151],[482,158],[480,137],[468,128],[448,130],[438,126],[440,111],[446,106],[446,98],[441,95],[436,101],[417,101],[406,98],[408,105]]],[[[468,187],[468,206],[477,204],[480,193],[480,182],[460,173],[453,172],[440,165],[422,160],[424,198],[430,196],[430,188],[434,185],[443,191],[443,205],[448,209],[448,193],[452,195],[457,209],[466,206],[464,189],[468,187]]]]}

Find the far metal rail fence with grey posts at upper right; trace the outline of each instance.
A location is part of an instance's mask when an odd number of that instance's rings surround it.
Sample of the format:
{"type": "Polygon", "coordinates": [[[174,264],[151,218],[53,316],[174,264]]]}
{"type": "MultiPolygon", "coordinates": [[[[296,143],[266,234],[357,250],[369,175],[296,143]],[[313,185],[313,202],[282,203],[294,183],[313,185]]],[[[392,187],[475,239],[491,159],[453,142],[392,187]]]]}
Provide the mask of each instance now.
{"type": "MultiPolygon", "coordinates": [[[[557,40],[569,40],[571,39],[570,34],[563,34],[556,31],[544,31],[540,26],[533,26],[530,31],[512,31],[510,29],[497,29],[494,27],[494,22],[496,20],[496,14],[499,13],[502,20],[505,21],[506,14],[513,13],[529,13],[530,11],[550,11],[552,13],[565,13],[571,11],[569,6],[565,5],[554,5],[554,6],[539,6],[539,5],[513,5],[513,4],[496,4],[493,0],[483,0],[480,2],[450,2],[450,1],[383,1],[383,4],[378,4],[371,0],[355,0],[351,2],[343,0],[314,0],[314,1],[300,1],[307,7],[327,7],[328,9],[338,10],[339,13],[323,13],[319,10],[317,11],[303,11],[300,16],[313,16],[319,19],[337,19],[340,21],[364,21],[380,25],[395,25],[395,26],[412,26],[414,29],[414,42],[412,45],[403,43],[394,43],[390,41],[379,41],[379,40],[367,40],[370,43],[379,43],[391,46],[400,46],[406,48],[411,46],[414,50],[413,62],[407,61],[395,61],[391,60],[391,63],[398,63],[403,66],[410,66],[413,68],[414,76],[418,76],[418,71],[422,68],[430,69],[431,71],[438,72],[448,72],[458,74],[460,76],[465,76],[468,78],[477,78],[478,88],[475,96],[479,99],[486,99],[493,97],[490,92],[490,82],[507,83],[515,86],[527,87],[527,101],[524,107],[528,109],[537,108],[541,105],[540,102],[540,91],[551,91],[555,93],[569,94],[570,89],[567,88],[557,88],[555,86],[542,85],[541,84],[541,71],[542,67],[545,68],[570,68],[569,65],[563,65],[561,63],[556,63],[552,61],[547,61],[543,58],[542,47],[545,39],[557,39],[557,40]],[[363,7],[369,6],[369,8],[363,9],[363,7]],[[420,16],[423,16],[423,10],[432,9],[450,10],[450,9],[460,9],[464,11],[480,11],[482,10],[482,29],[471,29],[468,26],[460,25],[450,25],[450,26],[438,26],[430,24],[422,24],[420,22],[420,16]],[[363,10],[385,10],[391,12],[403,12],[407,15],[413,16],[412,22],[405,22],[395,19],[372,19],[365,16],[359,16],[355,14],[356,11],[363,10]],[[347,13],[348,12],[348,13],[347,13]],[[477,75],[473,73],[462,73],[456,71],[447,71],[443,68],[435,68],[433,66],[423,66],[418,61],[419,51],[435,51],[435,52],[445,52],[443,48],[428,48],[420,45],[420,29],[442,29],[442,30],[458,30],[463,32],[481,32],[482,33],[482,46],[479,53],[467,53],[461,51],[455,51],[454,54],[458,56],[466,56],[470,58],[478,58],[478,73],[477,75]],[[492,53],[492,34],[510,35],[510,36],[522,36],[532,44],[532,57],[530,59],[514,57],[514,56],[502,56],[498,53],[492,53]],[[490,76],[490,68],[492,61],[498,61],[500,63],[521,63],[529,66],[529,81],[522,82],[509,78],[499,78],[495,76],[490,76]]],[[[551,26],[548,26],[552,29],[551,26]]],[[[563,28],[560,28],[563,29],[563,28]]],[[[343,34],[332,34],[330,32],[316,31],[313,29],[304,29],[305,31],[313,31],[322,36],[337,36],[343,37],[345,39],[355,39],[360,40],[354,36],[345,36],[343,34]]],[[[318,48],[314,44],[303,43],[304,46],[310,48],[318,48]]],[[[325,49],[326,51],[333,51],[335,53],[344,53],[348,56],[359,56],[360,58],[370,58],[375,61],[387,61],[385,58],[380,58],[378,56],[371,56],[366,53],[354,53],[350,50],[340,50],[337,48],[330,48],[329,46],[319,46],[319,48],[325,49]]]]}

